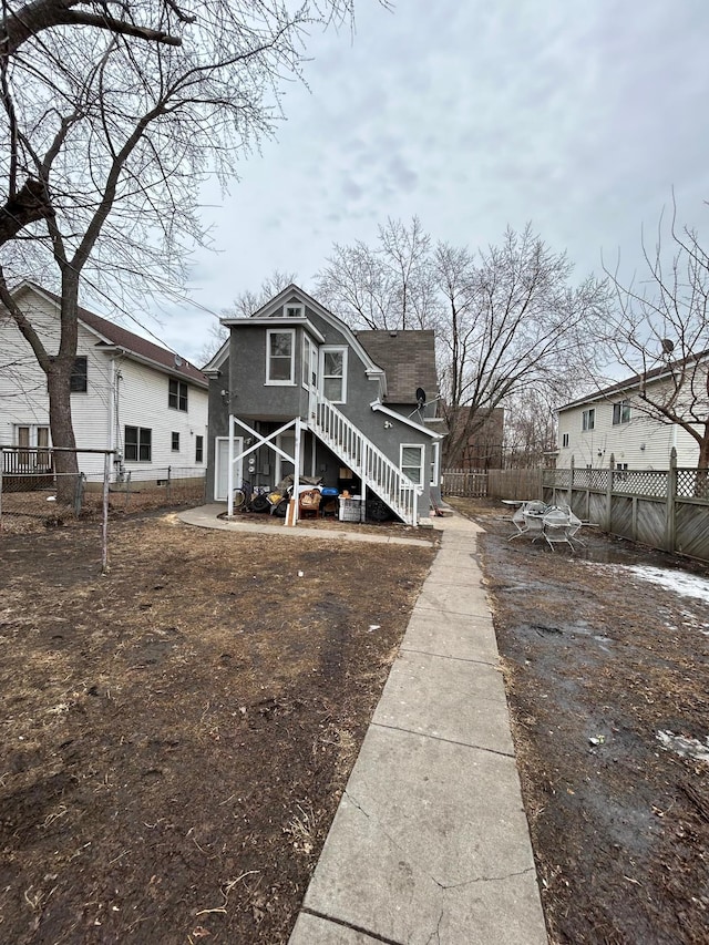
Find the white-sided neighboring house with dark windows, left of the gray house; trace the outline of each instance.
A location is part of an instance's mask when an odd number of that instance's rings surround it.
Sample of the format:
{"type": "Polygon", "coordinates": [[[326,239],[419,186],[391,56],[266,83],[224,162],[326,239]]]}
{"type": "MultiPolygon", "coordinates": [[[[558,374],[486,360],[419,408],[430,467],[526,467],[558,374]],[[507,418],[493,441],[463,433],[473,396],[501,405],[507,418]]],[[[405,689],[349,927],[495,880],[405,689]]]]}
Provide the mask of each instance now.
{"type": "MultiPolygon", "coordinates": [[[[59,348],[59,298],[33,283],[13,292],[47,349],[59,348]]],[[[167,468],[206,469],[206,377],[172,351],[79,309],[71,411],[78,449],[114,450],[112,481],[154,481],[167,468]]],[[[0,445],[51,446],[44,372],[14,321],[0,310],[0,445]]],[[[31,453],[27,454],[31,456],[31,453]]],[[[104,458],[80,453],[89,481],[104,458]]]]}

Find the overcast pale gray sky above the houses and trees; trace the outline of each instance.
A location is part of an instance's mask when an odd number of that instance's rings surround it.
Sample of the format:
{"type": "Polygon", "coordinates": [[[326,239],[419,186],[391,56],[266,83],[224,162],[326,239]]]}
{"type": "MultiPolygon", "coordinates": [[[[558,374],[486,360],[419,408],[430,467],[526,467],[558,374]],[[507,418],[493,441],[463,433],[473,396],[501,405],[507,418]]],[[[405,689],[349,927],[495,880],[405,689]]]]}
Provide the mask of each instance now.
{"type": "Polygon", "coordinates": [[[602,250],[631,270],[672,188],[682,223],[707,223],[708,43],[707,0],[357,0],[353,38],[311,38],[277,140],[205,192],[197,307],[155,333],[198,360],[237,294],[274,268],[310,288],[333,243],[373,243],[387,217],[471,248],[531,220],[579,278],[602,250]]]}

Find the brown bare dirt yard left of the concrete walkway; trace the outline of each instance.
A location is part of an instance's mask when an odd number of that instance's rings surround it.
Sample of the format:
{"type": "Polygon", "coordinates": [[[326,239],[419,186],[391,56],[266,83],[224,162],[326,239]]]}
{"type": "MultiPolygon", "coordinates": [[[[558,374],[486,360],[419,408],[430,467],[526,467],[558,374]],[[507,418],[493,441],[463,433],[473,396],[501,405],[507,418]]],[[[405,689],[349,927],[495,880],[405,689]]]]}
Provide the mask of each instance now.
{"type": "Polygon", "coordinates": [[[0,941],[287,942],[433,554],[0,535],[0,941]]]}

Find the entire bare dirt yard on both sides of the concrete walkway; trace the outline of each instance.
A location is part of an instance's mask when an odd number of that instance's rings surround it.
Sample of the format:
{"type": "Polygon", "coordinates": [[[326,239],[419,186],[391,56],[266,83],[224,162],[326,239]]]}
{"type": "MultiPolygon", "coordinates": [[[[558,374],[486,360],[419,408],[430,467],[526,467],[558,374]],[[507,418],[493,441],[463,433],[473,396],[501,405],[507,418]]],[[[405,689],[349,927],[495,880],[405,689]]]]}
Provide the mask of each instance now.
{"type": "MultiPolygon", "coordinates": [[[[706,945],[709,569],[455,504],[552,943],[706,945]]],[[[285,943],[435,546],[110,535],[105,577],[95,524],[0,535],[0,941],[285,943]]]]}

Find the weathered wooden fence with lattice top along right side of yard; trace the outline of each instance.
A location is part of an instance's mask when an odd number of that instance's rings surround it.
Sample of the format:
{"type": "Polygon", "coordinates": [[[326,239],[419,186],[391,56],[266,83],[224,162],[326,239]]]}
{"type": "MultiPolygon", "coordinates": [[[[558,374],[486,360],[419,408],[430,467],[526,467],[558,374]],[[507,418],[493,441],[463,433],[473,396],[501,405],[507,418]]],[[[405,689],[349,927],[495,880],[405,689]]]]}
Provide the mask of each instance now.
{"type": "Polygon", "coordinates": [[[543,490],[604,532],[709,561],[709,470],[678,469],[674,450],[669,470],[544,470],[543,490]]]}

